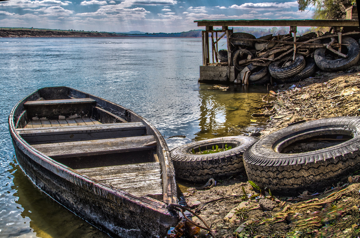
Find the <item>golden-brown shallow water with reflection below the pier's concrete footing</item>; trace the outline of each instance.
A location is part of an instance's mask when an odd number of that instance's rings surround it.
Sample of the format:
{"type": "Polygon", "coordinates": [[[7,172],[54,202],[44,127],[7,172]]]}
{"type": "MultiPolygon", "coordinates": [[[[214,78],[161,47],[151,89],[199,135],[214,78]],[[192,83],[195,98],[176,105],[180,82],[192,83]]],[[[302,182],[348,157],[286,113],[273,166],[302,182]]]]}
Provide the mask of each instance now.
{"type": "Polygon", "coordinates": [[[261,95],[267,92],[265,86],[230,86],[226,91],[210,84],[200,84],[199,90],[199,132],[194,141],[222,136],[248,134],[261,130],[266,124],[264,118],[257,118],[256,123],[251,114],[261,104],[261,95]]]}

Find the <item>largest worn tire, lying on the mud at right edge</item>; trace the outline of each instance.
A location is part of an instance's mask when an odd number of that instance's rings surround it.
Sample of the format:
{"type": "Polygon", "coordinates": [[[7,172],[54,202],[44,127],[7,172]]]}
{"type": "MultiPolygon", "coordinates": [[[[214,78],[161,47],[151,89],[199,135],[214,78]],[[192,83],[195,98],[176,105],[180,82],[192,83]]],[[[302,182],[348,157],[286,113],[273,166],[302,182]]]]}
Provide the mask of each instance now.
{"type": "Polygon", "coordinates": [[[244,152],[244,166],[249,180],[271,192],[288,195],[306,190],[322,192],[360,169],[359,148],[360,117],[319,119],[280,129],[260,139],[244,152]],[[295,142],[326,135],[350,139],[318,150],[281,153],[295,142]]]}

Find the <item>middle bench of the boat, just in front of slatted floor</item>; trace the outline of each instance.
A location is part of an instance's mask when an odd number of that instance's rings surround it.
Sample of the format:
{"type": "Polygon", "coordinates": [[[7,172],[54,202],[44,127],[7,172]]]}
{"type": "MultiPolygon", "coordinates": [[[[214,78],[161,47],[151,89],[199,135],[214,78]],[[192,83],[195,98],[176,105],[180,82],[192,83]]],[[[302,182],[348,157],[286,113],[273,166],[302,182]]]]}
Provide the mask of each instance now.
{"type": "Polygon", "coordinates": [[[144,136],[145,125],[141,122],[90,125],[76,125],[75,123],[73,126],[66,127],[50,126],[37,128],[18,128],[16,131],[27,143],[35,145],[43,143],[144,136]]]}

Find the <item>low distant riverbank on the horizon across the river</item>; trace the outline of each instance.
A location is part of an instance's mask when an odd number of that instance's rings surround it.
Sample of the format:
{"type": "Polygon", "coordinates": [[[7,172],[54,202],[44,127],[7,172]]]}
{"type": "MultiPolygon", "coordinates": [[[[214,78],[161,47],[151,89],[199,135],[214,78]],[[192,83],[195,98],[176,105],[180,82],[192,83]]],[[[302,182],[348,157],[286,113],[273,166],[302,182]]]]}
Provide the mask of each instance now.
{"type": "Polygon", "coordinates": [[[126,34],[93,31],[52,30],[37,28],[0,28],[0,37],[179,37],[199,38],[201,30],[180,33],[126,34]]]}

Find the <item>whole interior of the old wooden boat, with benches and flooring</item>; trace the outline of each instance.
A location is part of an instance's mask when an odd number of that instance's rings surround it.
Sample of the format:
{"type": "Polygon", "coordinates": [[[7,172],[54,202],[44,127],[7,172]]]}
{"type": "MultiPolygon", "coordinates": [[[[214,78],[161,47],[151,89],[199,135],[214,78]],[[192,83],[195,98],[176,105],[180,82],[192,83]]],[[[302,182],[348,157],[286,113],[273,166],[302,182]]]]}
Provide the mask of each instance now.
{"type": "Polygon", "coordinates": [[[60,98],[46,98],[41,92],[28,97],[16,119],[19,136],[77,173],[132,195],[161,201],[157,142],[153,134],[147,134],[146,125],[141,120],[131,122],[137,116],[106,100],[99,102],[86,95],[60,98]],[[115,115],[117,111],[122,116],[115,115]]]}

